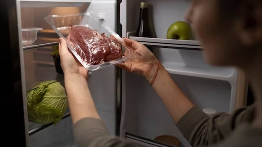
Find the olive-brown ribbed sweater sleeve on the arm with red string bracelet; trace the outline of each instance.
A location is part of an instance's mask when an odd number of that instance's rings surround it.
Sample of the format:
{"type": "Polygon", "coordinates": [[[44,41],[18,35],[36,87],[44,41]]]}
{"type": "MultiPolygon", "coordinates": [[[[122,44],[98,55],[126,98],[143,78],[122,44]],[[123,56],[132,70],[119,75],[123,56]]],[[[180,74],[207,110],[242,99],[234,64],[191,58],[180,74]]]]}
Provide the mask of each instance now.
{"type": "Polygon", "coordinates": [[[241,123],[254,118],[254,105],[236,110],[232,114],[219,113],[210,118],[198,107],[190,109],[177,123],[177,128],[192,146],[213,146],[241,123]]]}

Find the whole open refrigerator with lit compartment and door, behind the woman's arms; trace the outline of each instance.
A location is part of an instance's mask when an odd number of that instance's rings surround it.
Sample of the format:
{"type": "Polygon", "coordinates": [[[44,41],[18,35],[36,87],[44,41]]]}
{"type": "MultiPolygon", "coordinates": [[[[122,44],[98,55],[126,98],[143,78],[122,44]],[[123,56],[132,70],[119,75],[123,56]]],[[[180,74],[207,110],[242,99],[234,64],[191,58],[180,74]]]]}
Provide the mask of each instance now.
{"type": "MultiPolygon", "coordinates": [[[[145,0],[150,4],[150,21],[157,38],[134,37],[142,0],[8,0],[1,3],[6,50],[6,76],[12,80],[9,105],[15,105],[9,118],[7,136],[11,142],[26,147],[77,146],[74,142],[70,112],[57,125],[28,122],[26,92],[32,84],[57,80],[64,86],[63,75],[55,70],[53,47],[58,35],[43,19],[47,15],[94,13],[121,37],[154,47],[173,80],[200,109],[231,113],[246,105],[248,80],[234,67],[216,67],[205,63],[199,41],[169,40],[168,27],[184,20],[190,1],[145,0]],[[24,45],[26,29],[36,29],[37,39],[24,45]]],[[[29,33],[29,32],[27,32],[29,33]]],[[[230,56],[230,55],[229,55],[230,56]]],[[[111,135],[144,146],[171,146],[154,139],[172,135],[181,147],[190,147],[176,128],[161,99],[144,77],[115,66],[89,72],[89,88],[97,111],[111,135]]],[[[10,111],[11,112],[11,111],[10,111]]]]}

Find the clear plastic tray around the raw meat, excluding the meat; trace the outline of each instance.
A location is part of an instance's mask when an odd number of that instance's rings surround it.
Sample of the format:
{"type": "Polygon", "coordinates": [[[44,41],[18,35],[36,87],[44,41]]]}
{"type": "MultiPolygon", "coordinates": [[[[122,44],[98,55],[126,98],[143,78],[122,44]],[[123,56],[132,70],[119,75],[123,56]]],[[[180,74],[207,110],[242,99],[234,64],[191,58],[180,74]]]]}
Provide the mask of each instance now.
{"type": "Polygon", "coordinates": [[[71,50],[71,52],[74,54],[74,56],[78,59],[78,61],[89,71],[94,71],[97,69],[102,69],[108,66],[112,66],[115,64],[118,64],[123,61],[129,60],[127,58],[127,55],[130,53],[130,50],[123,44],[123,39],[110,27],[103,24],[102,21],[98,20],[97,17],[90,15],[90,13],[81,13],[81,14],[70,14],[70,15],[49,15],[45,17],[45,20],[53,27],[53,29],[56,31],[59,37],[64,38],[66,40],[66,37],[69,35],[70,27],[69,26],[85,26],[90,29],[96,30],[100,34],[105,33],[106,36],[114,36],[121,46],[122,53],[124,56],[122,56],[119,59],[109,61],[106,63],[101,63],[98,65],[91,65],[87,64],[81,57],[78,55],[77,51],[70,45],[70,43],[67,41],[68,48],[71,50]]]}

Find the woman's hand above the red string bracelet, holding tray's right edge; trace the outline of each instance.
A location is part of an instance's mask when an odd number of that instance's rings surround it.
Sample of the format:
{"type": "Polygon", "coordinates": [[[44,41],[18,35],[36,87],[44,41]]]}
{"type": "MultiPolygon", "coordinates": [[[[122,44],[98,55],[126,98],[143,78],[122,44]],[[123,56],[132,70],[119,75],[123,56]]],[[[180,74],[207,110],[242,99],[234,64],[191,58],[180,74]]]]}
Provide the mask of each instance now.
{"type": "Polygon", "coordinates": [[[124,42],[130,50],[130,54],[126,56],[127,58],[132,58],[132,60],[119,63],[117,66],[129,72],[143,75],[151,82],[159,64],[155,55],[146,46],[137,41],[124,38],[124,42]]]}

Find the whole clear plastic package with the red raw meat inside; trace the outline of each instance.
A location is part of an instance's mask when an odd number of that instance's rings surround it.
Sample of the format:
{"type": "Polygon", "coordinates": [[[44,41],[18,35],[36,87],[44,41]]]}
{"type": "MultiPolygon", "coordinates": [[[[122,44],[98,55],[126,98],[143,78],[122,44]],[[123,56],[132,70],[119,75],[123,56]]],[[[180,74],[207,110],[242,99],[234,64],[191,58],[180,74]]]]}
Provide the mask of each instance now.
{"type": "Polygon", "coordinates": [[[130,50],[110,27],[89,13],[49,15],[46,21],[88,70],[94,71],[127,61],[130,50]],[[112,61],[111,61],[112,60],[112,61]]]}

